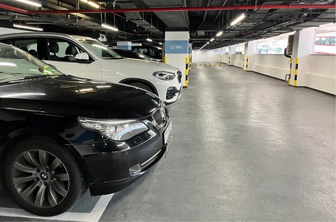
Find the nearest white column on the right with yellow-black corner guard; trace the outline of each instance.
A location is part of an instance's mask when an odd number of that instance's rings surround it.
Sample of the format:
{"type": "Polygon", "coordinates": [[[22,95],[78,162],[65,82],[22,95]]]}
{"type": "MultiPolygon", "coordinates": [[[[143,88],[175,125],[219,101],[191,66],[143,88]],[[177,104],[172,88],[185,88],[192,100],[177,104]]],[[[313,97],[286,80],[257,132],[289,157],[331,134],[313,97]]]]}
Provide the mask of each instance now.
{"type": "MultiPolygon", "coordinates": [[[[296,31],[294,34],[292,70],[290,81],[293,86],[305,85],[305,74],[309,71],[309,55],[314,53],[315,27],[296,31]]],[[[310,64],[314,66],[314,64],[310,64]]]]}

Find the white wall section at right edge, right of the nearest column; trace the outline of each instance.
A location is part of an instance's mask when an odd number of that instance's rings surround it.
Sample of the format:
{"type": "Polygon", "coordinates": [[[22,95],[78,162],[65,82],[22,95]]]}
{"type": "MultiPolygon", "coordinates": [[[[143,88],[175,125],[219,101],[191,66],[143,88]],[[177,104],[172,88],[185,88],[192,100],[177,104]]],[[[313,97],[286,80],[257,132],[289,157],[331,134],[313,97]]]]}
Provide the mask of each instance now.
{"type": "Polygon", "coordinates": [[[309,88],[336,94],[336,56],[310,55],[309,69],[305,73],[305,85],[309,88]]]}

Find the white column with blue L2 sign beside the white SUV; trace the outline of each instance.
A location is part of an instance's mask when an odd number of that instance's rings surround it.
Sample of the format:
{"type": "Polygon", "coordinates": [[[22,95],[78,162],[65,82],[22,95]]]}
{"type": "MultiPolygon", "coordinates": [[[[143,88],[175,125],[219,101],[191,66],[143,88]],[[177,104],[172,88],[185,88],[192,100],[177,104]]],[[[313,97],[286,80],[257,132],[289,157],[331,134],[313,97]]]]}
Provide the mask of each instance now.
{"type": "Polygon", "coordinates": [[[183,86],[188,86],[189,32],[165,32],[165,60],[182,72],[183,86]]]}

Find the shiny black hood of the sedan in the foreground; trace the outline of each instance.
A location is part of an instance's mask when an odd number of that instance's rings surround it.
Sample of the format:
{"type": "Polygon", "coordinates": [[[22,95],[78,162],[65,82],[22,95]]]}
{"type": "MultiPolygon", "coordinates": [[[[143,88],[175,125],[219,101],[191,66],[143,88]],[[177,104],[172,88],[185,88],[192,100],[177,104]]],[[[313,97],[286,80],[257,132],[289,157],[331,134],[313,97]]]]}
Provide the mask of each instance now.
{"type": "Polygon", "coordinates": [[[0,109],[86,118],[144,118],[160,106],[151,92],[74,76],[0,85],[0,109]]]}

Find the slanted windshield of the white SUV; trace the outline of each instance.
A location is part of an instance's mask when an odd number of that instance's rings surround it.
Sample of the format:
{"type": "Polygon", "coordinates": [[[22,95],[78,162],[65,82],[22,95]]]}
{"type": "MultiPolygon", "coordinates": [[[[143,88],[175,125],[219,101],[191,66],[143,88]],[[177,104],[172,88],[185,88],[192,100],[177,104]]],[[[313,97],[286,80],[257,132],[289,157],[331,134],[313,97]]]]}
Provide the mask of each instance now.
{"type": "Polygon", "coordinates": [[[77,39],[77,40],[83,43],[83,45],[86,46],[87,48],[90,48],[90,50],[92,50],[94,54],[98,55],[103,59],[106,60],[123,59],[123,57],[121,57],[118,53],[104,46],[104,44],[100,43],[97,40],[94,39],[77,39]]]}

